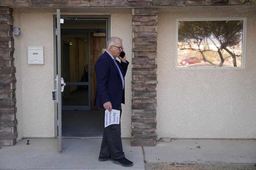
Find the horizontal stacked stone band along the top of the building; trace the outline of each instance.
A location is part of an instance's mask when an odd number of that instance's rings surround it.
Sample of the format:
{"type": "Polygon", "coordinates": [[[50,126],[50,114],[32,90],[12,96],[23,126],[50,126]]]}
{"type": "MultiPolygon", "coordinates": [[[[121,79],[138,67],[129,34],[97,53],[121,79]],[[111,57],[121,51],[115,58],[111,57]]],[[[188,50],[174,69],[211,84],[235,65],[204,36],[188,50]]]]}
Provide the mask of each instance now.
{"type": "Polygon", "coordinates": [[[239,0],[1,0],[0,6],[20,7],[158,7],[241,5],[239,0]]]}

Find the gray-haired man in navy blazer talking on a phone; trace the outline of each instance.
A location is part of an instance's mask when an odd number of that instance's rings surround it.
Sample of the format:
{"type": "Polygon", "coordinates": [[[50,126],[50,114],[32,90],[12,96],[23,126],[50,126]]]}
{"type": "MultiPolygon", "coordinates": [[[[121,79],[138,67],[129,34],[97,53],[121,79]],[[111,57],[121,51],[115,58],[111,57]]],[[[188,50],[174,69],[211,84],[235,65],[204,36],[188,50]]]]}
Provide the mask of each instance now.
{"type": "MultiPolygon", "coordinates": [[[[123,51],[122,39],[111,37],[107,42],[107,51],[102,54],[96,64],[96,95],[94,105],[99,107],[104,122],[105,110],[120,110],[121,103],[125,104],[124,77],[129,62],[126,56],[119,55],[123,51]],[[116,58],[121,60],[121,63],[116,58]]],[[[119,121],[120,122],[120,121],[119,121]]],[[[109,125],[104,129],[99,153],[99,161],[112,160],[114,164],[131,167],[133,162],[125,158],[121,140],[121,123],[109,125]]]]}

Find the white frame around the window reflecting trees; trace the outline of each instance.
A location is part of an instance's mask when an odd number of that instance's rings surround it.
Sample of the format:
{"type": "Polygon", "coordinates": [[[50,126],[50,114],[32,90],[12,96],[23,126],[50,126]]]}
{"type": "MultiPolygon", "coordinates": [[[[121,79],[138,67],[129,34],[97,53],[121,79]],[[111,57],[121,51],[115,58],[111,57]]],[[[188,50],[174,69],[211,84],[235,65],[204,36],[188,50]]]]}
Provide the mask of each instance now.
{"type": "Polygon", "coordinates": [[[247,17],[237,18],[177,18],[176,19],[176,54],[175,54],[175,68],[176,70],[183,69],[245,69],[245,50],[246,50],[246,25],[247,17]],[[243,37],[242,37],[242,58],[241,67],[178,67],[178,26],[179,21],[222,21],[222,20],[243,20],[243,37]]]}

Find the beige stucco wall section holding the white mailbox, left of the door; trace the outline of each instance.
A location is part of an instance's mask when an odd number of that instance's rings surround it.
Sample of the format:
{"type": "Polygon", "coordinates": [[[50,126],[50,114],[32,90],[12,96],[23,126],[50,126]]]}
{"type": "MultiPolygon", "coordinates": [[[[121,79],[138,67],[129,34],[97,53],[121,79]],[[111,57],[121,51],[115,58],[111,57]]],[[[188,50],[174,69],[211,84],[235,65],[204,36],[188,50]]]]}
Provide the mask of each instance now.
{"type": "MultiPolygon", "coordinates": [[[[15,10],[14,10],[15,11],[15,10]]],[[[54,137],[52,14],[14,12],[18,139],[54,137]],[[44,65],[29,65],[27,46],[44,46],[44,65]]]]}

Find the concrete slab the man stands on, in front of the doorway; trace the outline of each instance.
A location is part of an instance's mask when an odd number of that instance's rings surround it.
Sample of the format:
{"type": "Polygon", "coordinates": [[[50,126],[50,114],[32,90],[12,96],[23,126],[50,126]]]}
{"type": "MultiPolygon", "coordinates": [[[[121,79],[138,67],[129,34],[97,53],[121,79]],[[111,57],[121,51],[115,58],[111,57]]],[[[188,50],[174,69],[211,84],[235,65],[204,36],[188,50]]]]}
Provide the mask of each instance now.
{"type": "MultiPolygon", "coordinates": [[[[22,139],[14,146],[0,149],[0,169],[127,169],[99,162],[102,139],[62,139],[66,149],[58,151],[58,139],[22,139]],[[29,140],[30,145],[26,145],[29,140]]],[[[125,157],[133,161],[130,169],[145,170],[141,147],[132,147],[131,139],[122,139],[125,157]]]]}

